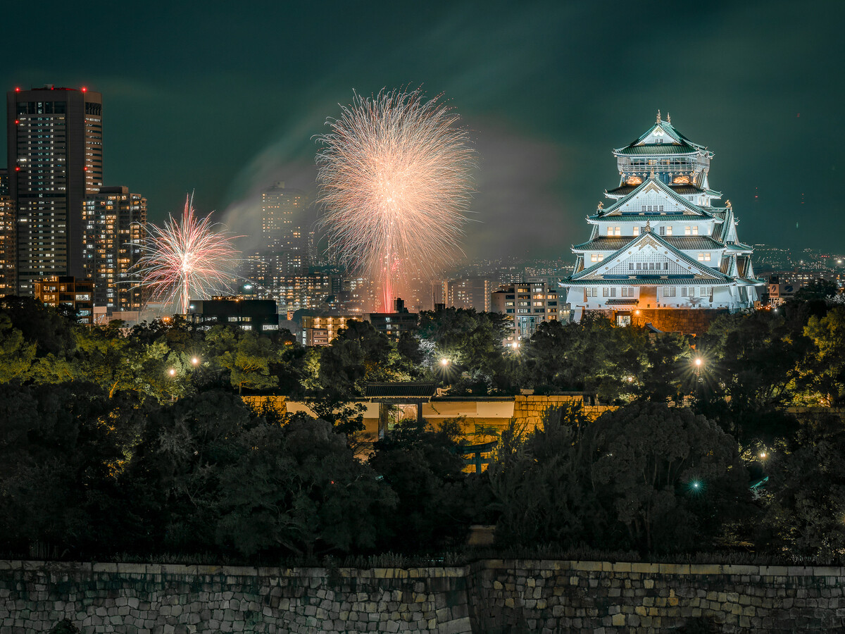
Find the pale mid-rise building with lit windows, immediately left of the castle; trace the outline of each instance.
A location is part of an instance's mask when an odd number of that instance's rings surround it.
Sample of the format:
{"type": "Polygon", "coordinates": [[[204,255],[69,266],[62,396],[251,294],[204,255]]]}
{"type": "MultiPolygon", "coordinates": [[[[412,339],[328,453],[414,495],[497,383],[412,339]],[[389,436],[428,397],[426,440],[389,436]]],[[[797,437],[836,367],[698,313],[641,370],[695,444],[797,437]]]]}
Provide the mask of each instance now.
{"type": "Polygon", "coordinates": [[[515,339],[530,339],[544,321],[569,320],[557,290],[545,281],[499,287],[491,293],[490,303],[494,313],[503,313],[512,320],[515,339]]]}

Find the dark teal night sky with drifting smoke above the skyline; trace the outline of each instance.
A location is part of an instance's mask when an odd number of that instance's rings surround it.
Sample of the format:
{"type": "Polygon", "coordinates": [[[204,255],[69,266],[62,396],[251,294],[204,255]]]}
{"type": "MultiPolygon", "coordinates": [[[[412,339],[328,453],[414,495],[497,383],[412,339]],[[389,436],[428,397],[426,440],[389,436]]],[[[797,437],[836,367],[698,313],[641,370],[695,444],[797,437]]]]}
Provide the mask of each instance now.
{"type": "Polygon", "coordinates": [[[845,252],[837,0],[23,4],[3,8],[0,86],[100,91],[106,184],[153,221],[195,190],[253,232],[259,189],[313,192],[311,137],[353,89],[423,85],[476,140],[471,258],[571,259],[619,183],[610,150],[658,108],[715,152],[740,239],[845,252]]]}

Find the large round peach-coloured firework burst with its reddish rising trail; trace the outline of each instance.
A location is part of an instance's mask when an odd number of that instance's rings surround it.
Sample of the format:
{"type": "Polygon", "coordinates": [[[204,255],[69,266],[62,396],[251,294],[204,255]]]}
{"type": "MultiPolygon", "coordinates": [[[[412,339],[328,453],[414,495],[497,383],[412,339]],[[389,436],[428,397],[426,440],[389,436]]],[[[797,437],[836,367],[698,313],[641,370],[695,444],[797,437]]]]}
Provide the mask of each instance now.
{"type": "Polygon", "coordinates": [[[355,95],[316,141],[319,226],[344,265],[379,285],[382,308],[417,270],[460,251],[474,150],[459,116],[422,90],[355,95]]]}

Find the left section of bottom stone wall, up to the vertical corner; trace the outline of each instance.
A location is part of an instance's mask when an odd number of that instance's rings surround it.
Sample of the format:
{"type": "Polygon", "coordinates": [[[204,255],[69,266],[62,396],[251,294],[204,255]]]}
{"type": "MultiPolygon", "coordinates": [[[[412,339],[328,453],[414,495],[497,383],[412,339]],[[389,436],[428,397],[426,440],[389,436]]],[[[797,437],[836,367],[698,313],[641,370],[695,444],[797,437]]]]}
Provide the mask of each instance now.
{"type": "Polygon", "coordinates": [[[466,569],[0,561],[0,631],[472,631],[466,569]]]}

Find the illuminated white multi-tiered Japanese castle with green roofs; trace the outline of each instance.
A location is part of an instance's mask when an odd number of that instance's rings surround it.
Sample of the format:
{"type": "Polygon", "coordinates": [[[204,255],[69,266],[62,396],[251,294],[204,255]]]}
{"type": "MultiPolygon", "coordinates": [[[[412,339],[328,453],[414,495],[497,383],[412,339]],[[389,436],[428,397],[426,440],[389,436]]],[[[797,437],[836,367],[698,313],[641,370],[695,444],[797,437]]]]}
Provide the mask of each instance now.
{"type": "Polygon", "coordinates": [[[613,156],[619,187],[587,216],[590,239],[572,248],[575,270],[560,282],[574,319],[602,311],[617,325],[693,332],[716,312],[754,306],[765,282],[737,238],[730,201],[713,205],[722,197],[707,179],[713,153],[657,111],[646,134],[613,156]]]}

